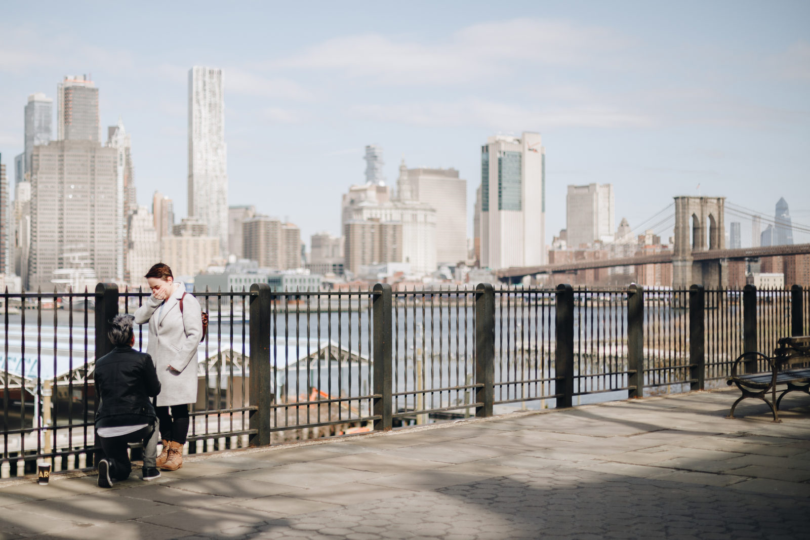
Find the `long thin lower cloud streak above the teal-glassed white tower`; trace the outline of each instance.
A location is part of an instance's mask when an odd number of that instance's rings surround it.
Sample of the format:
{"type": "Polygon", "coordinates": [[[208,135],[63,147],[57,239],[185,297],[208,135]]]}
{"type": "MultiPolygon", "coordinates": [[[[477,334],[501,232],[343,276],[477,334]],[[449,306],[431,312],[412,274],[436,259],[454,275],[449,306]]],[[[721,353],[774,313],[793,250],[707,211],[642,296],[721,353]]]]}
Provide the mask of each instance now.
{"type": "Polygon", "coordinates": [[[349,114],[364,120],[423,127],[475,126],[518,131],[551,127],[646,127],[653,122],[642,114],[595,105],[525,108],[475,98],[449,103],[355,105],[349,108],[349,114]]]}

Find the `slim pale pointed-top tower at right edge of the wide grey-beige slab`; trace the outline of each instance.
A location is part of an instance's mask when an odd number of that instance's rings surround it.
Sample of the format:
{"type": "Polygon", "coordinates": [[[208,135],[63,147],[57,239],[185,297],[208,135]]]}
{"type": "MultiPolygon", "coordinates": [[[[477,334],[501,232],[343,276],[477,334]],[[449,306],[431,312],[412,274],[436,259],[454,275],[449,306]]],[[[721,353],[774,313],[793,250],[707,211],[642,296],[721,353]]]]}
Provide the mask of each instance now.
{"type": "Polygon", "coordinates": [[[124,279],[131,281],[132,278],[126,275],[130,267],[126,261],[130,252],[127,247],[129,238],[127,227],[130,223],[130,214],[138,209],[138,200],[135,198],[132,143],[121,117],[118,118],[117,125],[111,125],[107,130],[107,146],[115,148],[117,152],[115,209],[117,281],[124,279]]]}

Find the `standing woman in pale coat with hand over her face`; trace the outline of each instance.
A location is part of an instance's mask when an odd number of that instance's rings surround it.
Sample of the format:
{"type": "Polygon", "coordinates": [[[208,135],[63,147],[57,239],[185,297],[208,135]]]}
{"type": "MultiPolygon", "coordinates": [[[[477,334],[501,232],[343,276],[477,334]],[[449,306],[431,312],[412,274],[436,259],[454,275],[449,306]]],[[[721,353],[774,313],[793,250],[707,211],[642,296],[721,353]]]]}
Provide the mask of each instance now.
{"type": "Polygon", "coordinates": [[[197,401],[197,347],[203,337],[202,310],[198,300],[185,292],[185,284],[174,281],[172,269],[162,262],[149,269],[146,279],[152,294],[135,311],[135,323],[149,322],[147,353],[154,359],[160,379],[156,412],[163,450],[157,458],[157,466],[177,470],[183,466],[189,404],[197,401]]]}

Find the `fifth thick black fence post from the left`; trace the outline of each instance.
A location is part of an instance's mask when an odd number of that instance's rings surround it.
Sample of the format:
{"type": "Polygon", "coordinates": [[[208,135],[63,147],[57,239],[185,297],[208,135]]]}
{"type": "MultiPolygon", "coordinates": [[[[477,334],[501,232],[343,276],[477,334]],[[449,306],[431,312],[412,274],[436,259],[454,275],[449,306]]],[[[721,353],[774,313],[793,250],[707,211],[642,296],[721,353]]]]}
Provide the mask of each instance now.
{"type": "Polygon", "coordinates": [[[573,288],[565,283],[556,291],[556,351],[554,393],[556,406],[573,406],[573,288]]]}

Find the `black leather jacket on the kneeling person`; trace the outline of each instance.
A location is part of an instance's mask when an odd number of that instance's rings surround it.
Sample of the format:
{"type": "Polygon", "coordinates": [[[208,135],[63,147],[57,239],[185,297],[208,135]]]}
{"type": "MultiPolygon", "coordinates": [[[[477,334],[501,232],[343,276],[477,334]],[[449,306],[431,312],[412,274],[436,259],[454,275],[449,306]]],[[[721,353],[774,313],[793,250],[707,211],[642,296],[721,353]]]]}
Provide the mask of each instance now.
{"type": "Polygon", "coordinates": [[[115,347],[96,360],[96,427],[151,423],[155,407],[149,398],[160,393],[155,364],[145,352],[115,347]]]}

